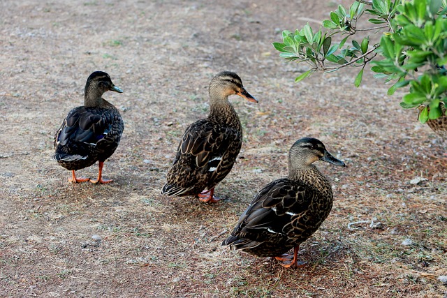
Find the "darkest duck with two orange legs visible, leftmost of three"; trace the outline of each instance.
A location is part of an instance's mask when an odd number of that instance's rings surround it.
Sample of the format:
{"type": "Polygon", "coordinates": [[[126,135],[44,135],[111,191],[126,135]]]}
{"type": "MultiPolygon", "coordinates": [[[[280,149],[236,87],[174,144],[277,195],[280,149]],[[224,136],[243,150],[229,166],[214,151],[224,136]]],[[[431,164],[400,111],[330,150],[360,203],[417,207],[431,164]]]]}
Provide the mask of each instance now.
{"type": "Polygon", "coordinates": [[[61,127],[54,135],[55,153],[52,157],[62,167],[71,170],[68,181],[90,181],[107,184],[112,179],[102,176],[104,161],[118,147],[124,131],[124,121],[117,108],[102,96],[107,91],[122,93],[108,73],[95,71],[85,84],[84,105],[68,112],[61,127]],[[98,178],[76,177],[75,171],[98,161],[98,178]]]}

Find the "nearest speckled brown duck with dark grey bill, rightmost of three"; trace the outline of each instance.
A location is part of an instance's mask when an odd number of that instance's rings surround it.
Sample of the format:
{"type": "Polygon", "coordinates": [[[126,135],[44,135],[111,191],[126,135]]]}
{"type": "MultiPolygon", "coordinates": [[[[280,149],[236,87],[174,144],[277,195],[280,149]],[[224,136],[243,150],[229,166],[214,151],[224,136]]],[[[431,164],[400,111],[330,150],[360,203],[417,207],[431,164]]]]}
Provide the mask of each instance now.
{"type": "Polygon", "coordinates": [[[325,161],[346,166],[314,137],[297,140],[288,153],[288,177],[270,182],[242,213],[222,246],[258,257],[272,257],[284,267],[301,267],[300,244],[312,236],[332,209],[332,187],[314,165],[325,161]],[[293,249],[293,253],[288,253],[293,249]]]}

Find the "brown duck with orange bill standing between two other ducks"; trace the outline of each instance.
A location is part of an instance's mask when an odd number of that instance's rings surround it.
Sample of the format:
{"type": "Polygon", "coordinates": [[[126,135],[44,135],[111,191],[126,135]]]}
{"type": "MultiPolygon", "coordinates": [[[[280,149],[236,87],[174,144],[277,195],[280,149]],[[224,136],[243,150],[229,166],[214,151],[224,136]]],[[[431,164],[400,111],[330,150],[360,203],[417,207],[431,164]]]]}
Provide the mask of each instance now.
{"type": "Polygon", "coordinates": [[[198,196],[207,203],[220,200],[214,196],[214,187],[230,172],[242,147],[242,125],[228,101],[232,95],[258,103],[236,73],[221,71],[212,77],[210,114],[184,131],[161,194],[198,196]]]}

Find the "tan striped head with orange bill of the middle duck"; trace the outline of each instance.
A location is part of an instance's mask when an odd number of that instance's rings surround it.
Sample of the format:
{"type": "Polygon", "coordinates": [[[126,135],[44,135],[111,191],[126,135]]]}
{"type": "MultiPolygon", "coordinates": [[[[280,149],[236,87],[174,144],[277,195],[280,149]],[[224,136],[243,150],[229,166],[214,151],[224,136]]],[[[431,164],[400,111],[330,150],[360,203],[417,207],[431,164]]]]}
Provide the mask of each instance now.
{"type": "Polygon", "coordinates": [[[258,100],[251,96],[242,85],[239,75],[230,71],[221,71],[215,75],[210,82],[210,97],[212,99],[227,99],[230,95],[238,95],[252,103],[258,100]]]}

